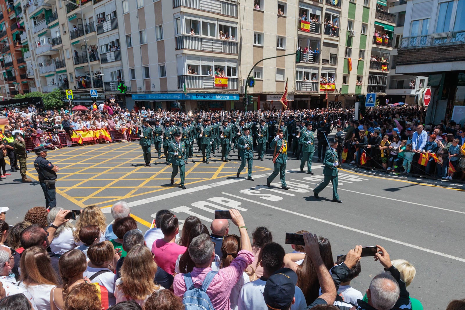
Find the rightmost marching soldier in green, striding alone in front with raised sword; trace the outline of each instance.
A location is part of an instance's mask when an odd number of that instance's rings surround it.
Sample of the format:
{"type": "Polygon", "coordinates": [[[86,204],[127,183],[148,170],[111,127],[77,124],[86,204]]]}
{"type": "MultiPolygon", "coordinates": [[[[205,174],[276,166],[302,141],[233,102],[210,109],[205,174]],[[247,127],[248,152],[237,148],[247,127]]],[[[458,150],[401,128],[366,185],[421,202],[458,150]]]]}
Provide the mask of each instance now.
{"type": "Polygon", "coordinates": [[[325,165],[323,175],[325,176],[325,179],[313,190],[313,194],[315,198],[318,199],[319,192],[329,184],[329,181],[331,181],[332,201],[341,203],[342,200],[339,199],[338,195],[338,153],[335,150],[336,147],[338,147],[338,143],[331,138],[329,139],[329,146],[329,150],[326,151],[325,158],[323,160],[323,165],[325,165]]]}

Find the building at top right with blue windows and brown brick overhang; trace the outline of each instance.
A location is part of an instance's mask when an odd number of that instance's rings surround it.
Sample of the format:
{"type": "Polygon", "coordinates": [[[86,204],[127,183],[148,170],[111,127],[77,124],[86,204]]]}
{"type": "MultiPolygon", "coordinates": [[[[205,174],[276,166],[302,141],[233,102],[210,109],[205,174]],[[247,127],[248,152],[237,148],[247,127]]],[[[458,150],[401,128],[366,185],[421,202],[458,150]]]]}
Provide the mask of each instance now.
{"type": "Polygon", "coordinates": [[[426,123],[465,121],[465,0],[408,0],[396,73],[425,76],[426,123]],[[455,111],[455,113],[454,113],[455,111]]]}

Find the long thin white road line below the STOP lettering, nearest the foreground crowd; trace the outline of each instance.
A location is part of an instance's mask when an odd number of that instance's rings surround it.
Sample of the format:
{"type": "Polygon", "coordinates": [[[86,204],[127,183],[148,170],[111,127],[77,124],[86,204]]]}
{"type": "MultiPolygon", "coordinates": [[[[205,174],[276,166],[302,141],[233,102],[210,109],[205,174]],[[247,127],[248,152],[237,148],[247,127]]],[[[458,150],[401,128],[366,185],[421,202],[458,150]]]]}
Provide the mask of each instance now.
{"type": "Polygon", "coordinates": [[[430,250],[430,249],[427,249],[427,248],[424,248],[424,247],[421,247],[421,246],[418,246],[418,245],[409,244],[409,243],[406,243],[406,242],[403,242],[403,241],[399,241],[399,240],[396,240],[396,239],[392,239],[392,238],[388,238],[388,237],[384,237],[384,236],[372,234],[371,232],[368,232],[368,231],[362,231],[362,230],[359,230],[359,229],[356,229],[356,228],[352,228],[352,227],[349,227],[349,226],[345,226],[345,225],[333,223],[333,222],[326,221],[326,220],[321,219],[321,218],[314,218],[314,217],[311,217],[311,216],[306,215],[306,214],[302,214],[302,213],[298,213],[298,212],[294,212],[294,211],[289,211],[289,210],[286,210],[286,209],[282,209],[282,208],[279,208],[279,207],[275,207],[274,205],[264,204],[264,203],[262,203],[262,202],[255,201],[255,200],[252,200],[252,199],[243,198],[243,197],[236,196],[236,195],[229,194],[229,193],[225,193],[225,192],[222,192],[222,194],[223,194],[223,195],[228,195],[228,196],[231,196],[231,197],[234,197],[234,198],[242,199],[242,200],[245,200],[245,201],[248,201],[248,202],[252,202],[252,203],[255,203],[255,204],[260,204],[260,205],[263,205],[263,206],[266,206],[266,207],[268,207],[268,208],[272,208],[272,209],[275,209],[275,210],[279,210],[279,211],[291,213],[291,214],[300,216],[300,217],[302,217],[302,218],[309,218],[309,219],[312,219],[312,220],[314,220],[314,221],[318,221],[318,222],[321,222],[321,223],[329,224],[329,225],[336,226],[336,227],[339,227],[339,228],[344,228],[344,229],[349,230],[349,231],[359,232],[359,233],[364,234],[364,235],[367,235],[367,236],[371,236],[371,237],[383,239],[383,240],[390,241],[390,242],[397,243],[397,244],[401,244],[401,245],[405,245],[405,246],[408,246],[408,247],[413,248],[413,249],[417,249],[417,250],[420,250],[420,251],[425,251],[425,252],[428,252],[428,253],[436,254],[436,255],[439,255],[439,256],[442,256],[442,257],[447,257],[447,258],[450,258],[450,259],[457,260],[457,261],[459,261],[459,262],[465,263],[465,259],[464,259],[464,258],[461,258],[461,257],[452,256],[452,255],[445,254],[445,253],[442,253],[442,252],[430,250]]]}

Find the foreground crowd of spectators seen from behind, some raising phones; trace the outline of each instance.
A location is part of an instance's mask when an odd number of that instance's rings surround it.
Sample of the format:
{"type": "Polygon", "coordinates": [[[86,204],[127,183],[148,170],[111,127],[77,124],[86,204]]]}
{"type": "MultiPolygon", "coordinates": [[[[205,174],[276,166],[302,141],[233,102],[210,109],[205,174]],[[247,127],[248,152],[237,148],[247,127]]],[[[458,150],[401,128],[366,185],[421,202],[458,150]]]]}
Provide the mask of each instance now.
{"type": "MultiPolygon", "coordinates": [[[[239,235],[227,219],[206,227],[195,216],[181,232],[168,210],[144,234],[124,201],[112,206],[111,224],[98,206],[82,209],[73,224],[73,211],[33,207],[9,226],[8,210],[0,209],[0,310],[423,309],[407,290],[415,267],[383,246],[371,258],[378,275],[363,275],[370,258],[361,258],[362,246],[336,258],[330,240],[300,230],[286,253],[264,226],[251,240],[235,209],[239,235]],[[362,276],[372,277],[369,287],[354,287],[362,276]]],[[[464,305],[455,300],[447,309],[464,305]]]]}

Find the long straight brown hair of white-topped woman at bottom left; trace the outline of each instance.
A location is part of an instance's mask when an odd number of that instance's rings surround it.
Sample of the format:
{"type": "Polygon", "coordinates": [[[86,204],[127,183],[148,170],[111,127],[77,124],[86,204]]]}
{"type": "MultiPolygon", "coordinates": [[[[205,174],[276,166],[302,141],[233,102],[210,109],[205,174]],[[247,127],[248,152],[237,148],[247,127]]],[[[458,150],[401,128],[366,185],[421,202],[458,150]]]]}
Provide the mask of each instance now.
{"type": "Polygon", "coordinates": [[[20,261],[21,281],[34,284],[57,285],[57,275],[43,246],[35,245],[24,250],[20,261]]]}

